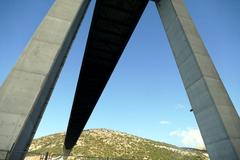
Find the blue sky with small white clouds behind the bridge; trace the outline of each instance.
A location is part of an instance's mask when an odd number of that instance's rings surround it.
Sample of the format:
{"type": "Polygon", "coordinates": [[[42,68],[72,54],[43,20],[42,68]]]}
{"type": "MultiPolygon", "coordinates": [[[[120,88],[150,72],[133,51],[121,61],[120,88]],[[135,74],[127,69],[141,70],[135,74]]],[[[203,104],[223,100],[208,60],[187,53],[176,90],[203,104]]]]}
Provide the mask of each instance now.
{"type": "MultiPolygon", "coordinates": [[[[95,1],[90,4],[35,137],[67,128],[95,1]]],[[[0,1],[0,85],[53,0],[0,1]]],[[[240,1],[185,0],[240,113],[240,1]]],[[[198,127],[160,17],[149,2],[86,128],[198,147],[198,127]]],[[[199,141],[199,142],[198,142],[199,141]]]]}

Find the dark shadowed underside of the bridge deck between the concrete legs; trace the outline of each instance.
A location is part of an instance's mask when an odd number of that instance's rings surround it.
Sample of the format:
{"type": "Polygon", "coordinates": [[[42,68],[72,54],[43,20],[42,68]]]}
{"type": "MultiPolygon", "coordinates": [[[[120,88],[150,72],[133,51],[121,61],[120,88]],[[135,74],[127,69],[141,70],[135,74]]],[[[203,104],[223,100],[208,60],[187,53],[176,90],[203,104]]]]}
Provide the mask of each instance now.
{"type": "Polygon", "coordinates": [[[148,0],[97,0],[65,138],[78,140],[148,0]]]}

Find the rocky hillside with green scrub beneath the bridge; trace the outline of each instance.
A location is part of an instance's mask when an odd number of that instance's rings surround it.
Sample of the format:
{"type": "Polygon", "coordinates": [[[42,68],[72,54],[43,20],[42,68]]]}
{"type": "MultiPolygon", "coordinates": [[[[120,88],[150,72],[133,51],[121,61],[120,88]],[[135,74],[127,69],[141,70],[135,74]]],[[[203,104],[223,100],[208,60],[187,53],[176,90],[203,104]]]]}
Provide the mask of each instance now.
{"type": "MultiPolygon", "coordinates": [[[[64,134],[58,133],[33,140],[30,153],[60,155],[64,134]]],[[[71,159],[99,157],[137,160],[207,160],[204,151],[184,149],[107,129],[85,130],[72,151],[71,159]],[[78,158],[77,158],[78,157],[78,158]]]]}

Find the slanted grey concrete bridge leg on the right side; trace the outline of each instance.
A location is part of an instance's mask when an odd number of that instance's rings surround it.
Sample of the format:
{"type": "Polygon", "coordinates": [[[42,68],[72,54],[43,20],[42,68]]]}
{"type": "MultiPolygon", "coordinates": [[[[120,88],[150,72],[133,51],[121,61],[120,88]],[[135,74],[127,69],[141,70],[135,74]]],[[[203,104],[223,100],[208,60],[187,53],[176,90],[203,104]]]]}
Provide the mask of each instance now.
{"type": "Polygon", "coordinates": [[[239,160],[239,116],[183,1],[156,5],[211,160],[239,160]]]}

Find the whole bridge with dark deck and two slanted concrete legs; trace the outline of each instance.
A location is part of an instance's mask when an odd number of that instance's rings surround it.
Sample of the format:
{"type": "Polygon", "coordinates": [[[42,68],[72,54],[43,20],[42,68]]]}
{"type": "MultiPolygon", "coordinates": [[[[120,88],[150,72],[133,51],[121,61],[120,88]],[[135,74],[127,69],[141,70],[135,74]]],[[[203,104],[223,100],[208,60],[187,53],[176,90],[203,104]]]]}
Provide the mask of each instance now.
{"type": "MultiPolygon", "coordinates": [[[[4,82],[0,90],[0,159],[24,157],[89,3],[56,0],[4,82]]],[[[148,3],[96,0],[64,142],[66,157],[148,3]]],[[[210,158],[240,159],[238,114],[183,1],[155,3],[210,158]]]]}

